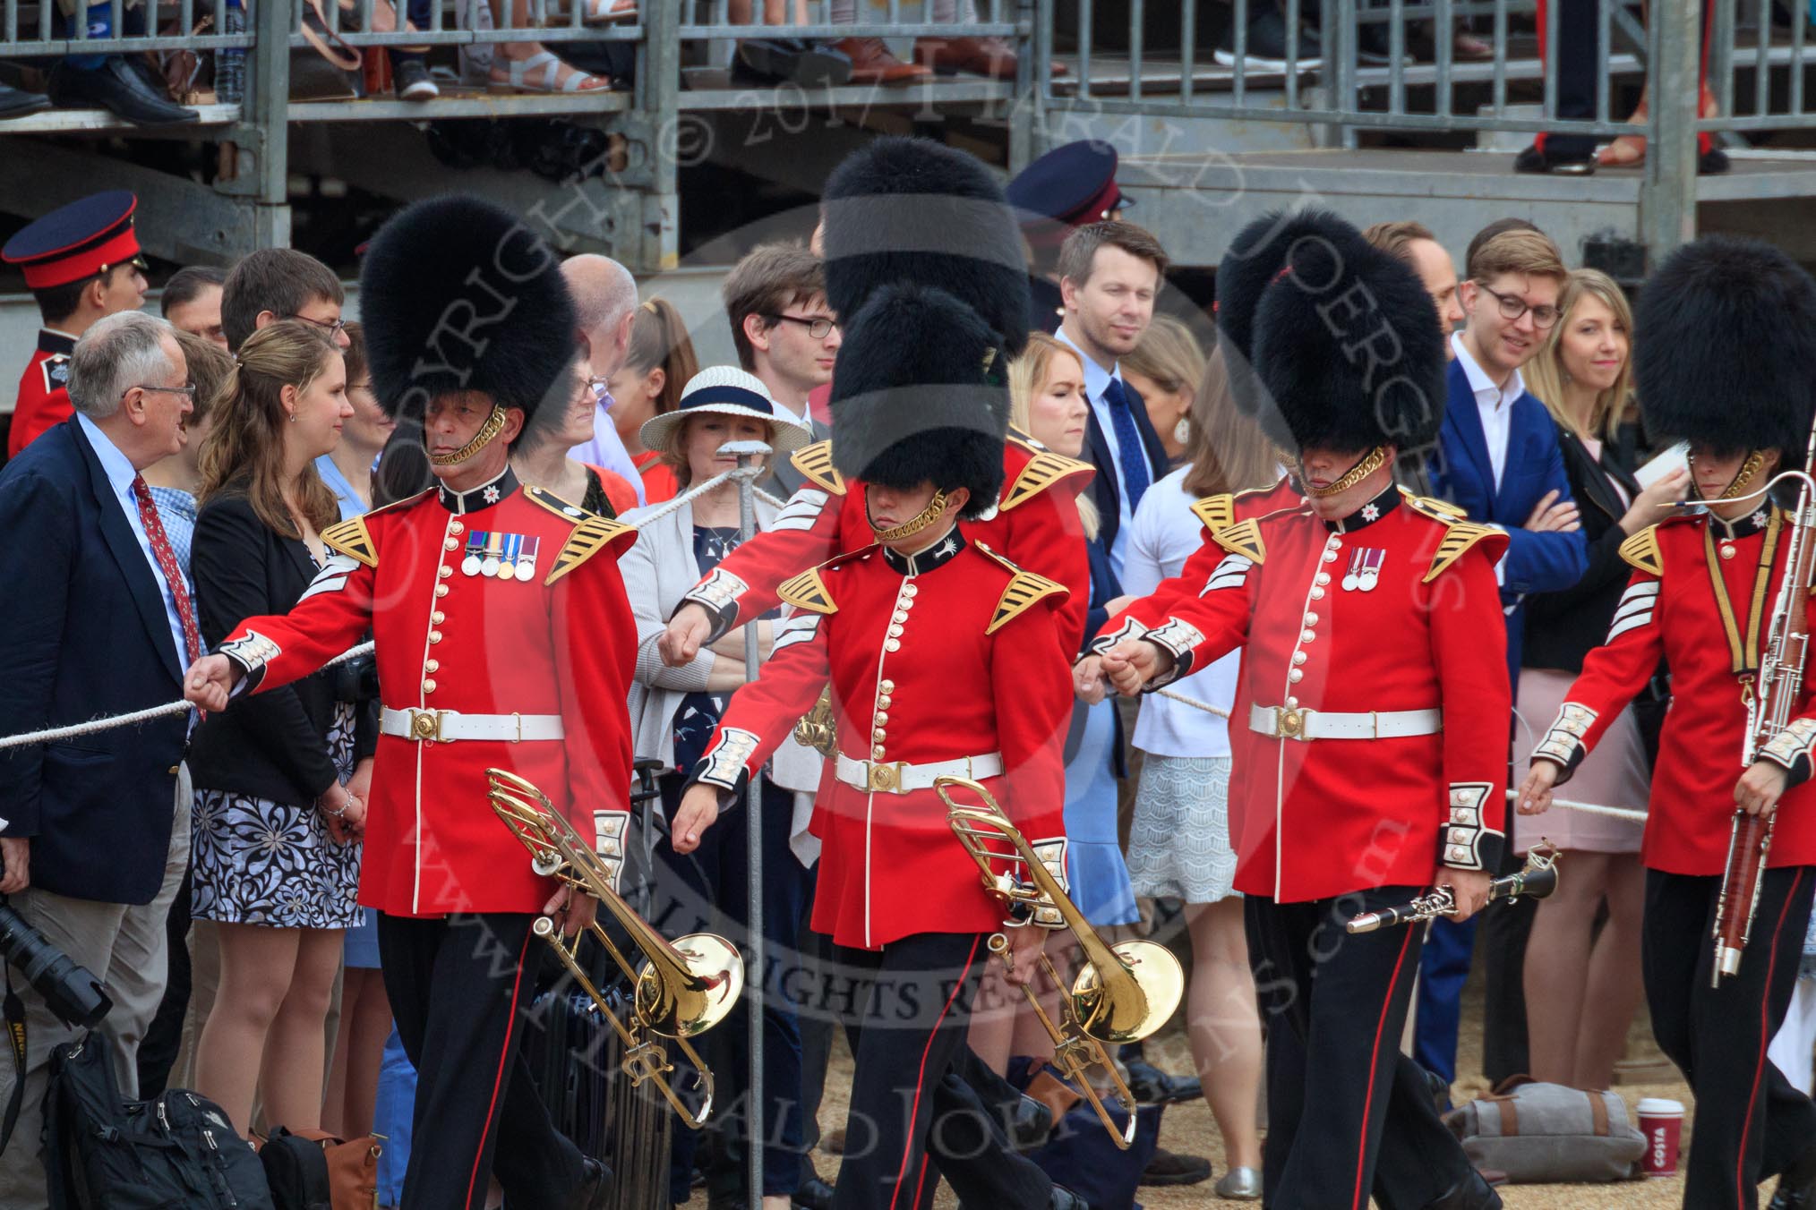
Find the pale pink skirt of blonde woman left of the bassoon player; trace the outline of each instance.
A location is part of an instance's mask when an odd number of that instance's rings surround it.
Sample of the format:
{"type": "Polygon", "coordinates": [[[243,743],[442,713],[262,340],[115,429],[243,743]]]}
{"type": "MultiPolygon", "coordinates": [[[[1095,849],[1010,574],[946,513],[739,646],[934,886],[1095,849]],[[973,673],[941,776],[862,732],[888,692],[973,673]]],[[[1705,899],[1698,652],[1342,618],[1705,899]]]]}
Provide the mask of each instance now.
{"type": "MultiPolygon", "coordinates": [[[[1515,706],[1516,722],[1513,727],[1513,784],[1525,780],[1527,762],[1533,747],[1551,729],[1576,678],[1565,671],[1549,668],[1520,669],[1520,698],[1515,706]]],[[[1620,711],[1594,751],[1576,766],[1569,782],[1558,787],[1558,798],[1587,802],[1598,807],[1624,807],[1627,811],[1645,811],[1651,795],[1653,775],[1645,764],[1645,746],[1640,742],[1640,727],[1633,720],[1633,707],[1620,711]]],[[[1645,833],[1642,820],[1616,820],[1587,811],[1551,807],[1544,815],[1513,816],[1515,853],[1525,853],[1540,842],[1549,840],[1565,853],[1638,853],[1640,838],[1645,833]]]]}

